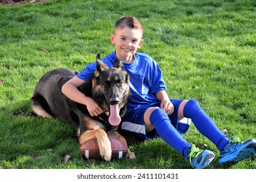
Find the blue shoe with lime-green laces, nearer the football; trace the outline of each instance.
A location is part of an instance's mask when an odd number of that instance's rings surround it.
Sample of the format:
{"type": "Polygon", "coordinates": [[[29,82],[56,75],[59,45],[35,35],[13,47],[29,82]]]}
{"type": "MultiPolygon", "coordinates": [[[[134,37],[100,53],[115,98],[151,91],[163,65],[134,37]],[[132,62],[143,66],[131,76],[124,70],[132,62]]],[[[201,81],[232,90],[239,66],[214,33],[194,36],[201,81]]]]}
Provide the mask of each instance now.
{"type": "Polygon", "coordinates": [[[214,153],[208,149],[201,150],[192,145],[190,154],[188,154],[188,162],[195,169],[203,169],[209,166],[210,162],[214,159],[214,153]]]}

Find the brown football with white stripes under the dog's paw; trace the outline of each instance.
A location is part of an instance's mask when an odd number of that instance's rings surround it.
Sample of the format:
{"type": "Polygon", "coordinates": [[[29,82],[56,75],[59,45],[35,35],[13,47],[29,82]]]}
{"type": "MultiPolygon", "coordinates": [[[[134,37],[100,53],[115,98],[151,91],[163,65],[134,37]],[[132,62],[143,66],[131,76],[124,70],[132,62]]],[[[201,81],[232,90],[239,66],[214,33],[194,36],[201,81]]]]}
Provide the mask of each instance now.
{"type": "MultiPolygon", "coordinates": [[[[117,138],[111,136],[108,136],[108,138],[112,149],[111,159],[121,159],[126,156],[128,148],[117,138]]],[[[91,138],[82,144],[80,146],[80,153],[83,154],[86,159],[101,159],[96,138],[91,138]]]]}

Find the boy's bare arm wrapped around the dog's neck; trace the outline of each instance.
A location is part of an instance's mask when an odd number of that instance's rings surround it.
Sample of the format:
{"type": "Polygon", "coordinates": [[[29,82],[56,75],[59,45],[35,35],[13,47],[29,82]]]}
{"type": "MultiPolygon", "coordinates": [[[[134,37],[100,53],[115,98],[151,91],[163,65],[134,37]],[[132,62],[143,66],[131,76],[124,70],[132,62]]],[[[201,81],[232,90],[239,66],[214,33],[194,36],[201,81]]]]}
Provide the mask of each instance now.
{"type": "Polygon", "coordinates": [[[86,105],[91,116],[97,116],[103,112],[102,108],[92,98],[78,90],[78,86],[84,82],[78,77],[73,77],[63,85],[61,92],[72,101],[86,105]]]}

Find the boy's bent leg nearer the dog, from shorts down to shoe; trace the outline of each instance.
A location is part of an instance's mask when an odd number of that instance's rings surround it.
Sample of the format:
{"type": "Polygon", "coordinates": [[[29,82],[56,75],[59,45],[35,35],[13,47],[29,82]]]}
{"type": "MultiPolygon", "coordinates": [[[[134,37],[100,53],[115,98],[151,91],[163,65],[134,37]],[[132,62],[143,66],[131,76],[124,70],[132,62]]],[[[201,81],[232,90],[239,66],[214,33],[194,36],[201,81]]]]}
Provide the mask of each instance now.
{"type": "MultiPolygon", "coordinates": [[[[178,104],[179,103],[176,104],[177,108],[178,104]]],[[[177,110],[175,110],[175,113],[177,114],[177,110]]],[[[122,131],[129,131],[137,137],[145,140],[160,136],[165,142],[167,142],[167,144],[169,144],[169,146],[180,152],[190,162],[190,164],[192,164],[193,168],[206,168],[209,162],[214,158],[214,153],[211,151],[201,151],[186,142],[186,140],[182,138],[175,127],[171,124],[169,116],[159,107],[152,108],[139,106],[128,108],[126,116],[122,119],[120,132],[122,131]],[[147,112],[149,110],[150,112],[147,112]],[[147,122],[145,120],[145,115],[148,116],[146,117],[147,122]],[[154,127],[149,127],[149,125],[152,125],[150,121],[153,123],[154,127]]]]}

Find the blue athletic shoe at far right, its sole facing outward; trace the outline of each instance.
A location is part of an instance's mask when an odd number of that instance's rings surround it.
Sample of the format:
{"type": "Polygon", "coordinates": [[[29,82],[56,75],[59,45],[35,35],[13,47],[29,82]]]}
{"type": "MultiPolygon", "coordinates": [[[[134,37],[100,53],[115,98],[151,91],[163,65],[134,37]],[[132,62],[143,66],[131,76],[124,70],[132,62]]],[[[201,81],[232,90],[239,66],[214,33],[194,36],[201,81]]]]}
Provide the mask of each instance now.
{"type": "Polygon", "coordinates": [[[220,163],[239,162],[256,153],[256,140],[249,139],[246,142],[240,142],[239,138],[231,138],[230,142],[220,153],[220,163]]]}

